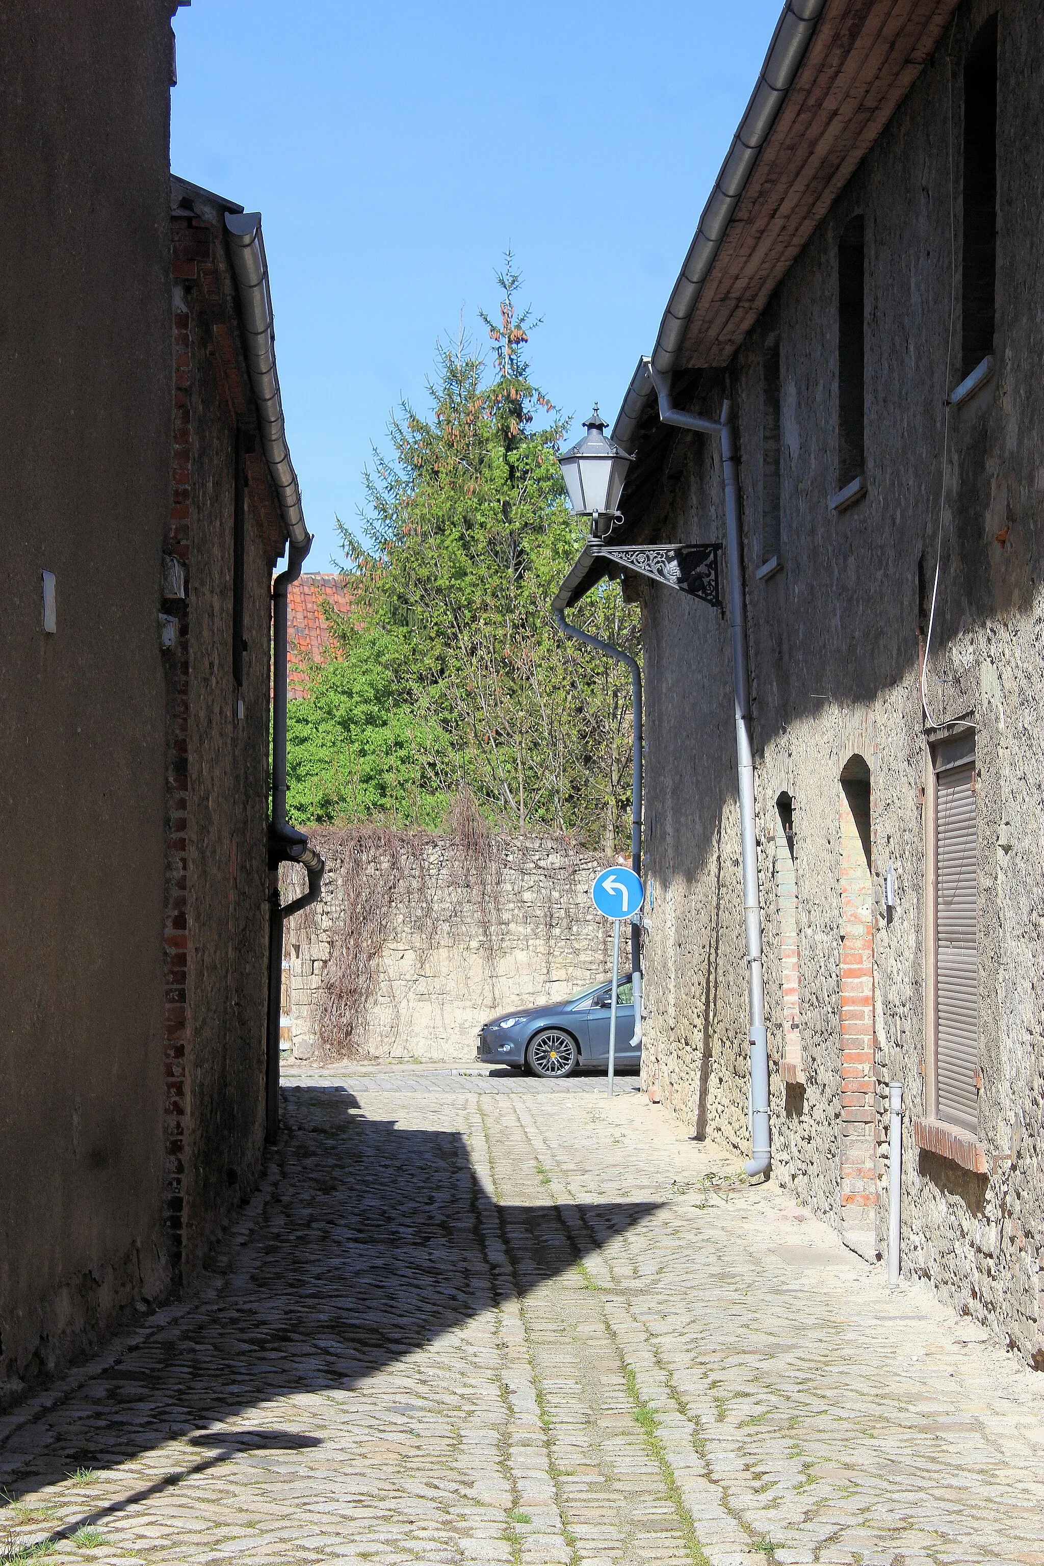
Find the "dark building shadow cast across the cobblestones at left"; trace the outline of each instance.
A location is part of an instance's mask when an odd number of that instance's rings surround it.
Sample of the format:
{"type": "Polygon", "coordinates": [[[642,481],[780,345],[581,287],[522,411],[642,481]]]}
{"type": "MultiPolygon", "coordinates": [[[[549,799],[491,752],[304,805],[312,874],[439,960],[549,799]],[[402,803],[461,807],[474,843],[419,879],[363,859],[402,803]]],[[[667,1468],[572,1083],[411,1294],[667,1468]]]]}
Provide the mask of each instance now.
{"type": "MultiPolygon", "coordinates": [[[[247,1450],[265,1463],[263,1449],[321,1445],[307,1428],[315,1394],[351,1391],[573,1267],[659,1206],[498,1207],[460,1132],[368,1118],[343,1087],[291,1087],[283,1126],[263,1192],[216,1259],[216,1287],[16,1428],[0,1447],[8,1494],[28,1496],[75,1470],[100,1474],[174,1441],[202,1449],[202,1467],[247,1450]],[[520,1231],[526,1265],[512,1273],[499,1237],[520,1231]],[[266,1430],[274,1400],[280,1428],[266,1430]],[[304,1428],[283,1428],[296,1408],[304,1428]],[[249,1428],[239,1427],[247,1417],[249,1428]]],[[[200,1464],[157,1470],[121,1506],[200,1464]]],[[[105,1513],[100,1505],[77,1525],[105,1513]]]]}

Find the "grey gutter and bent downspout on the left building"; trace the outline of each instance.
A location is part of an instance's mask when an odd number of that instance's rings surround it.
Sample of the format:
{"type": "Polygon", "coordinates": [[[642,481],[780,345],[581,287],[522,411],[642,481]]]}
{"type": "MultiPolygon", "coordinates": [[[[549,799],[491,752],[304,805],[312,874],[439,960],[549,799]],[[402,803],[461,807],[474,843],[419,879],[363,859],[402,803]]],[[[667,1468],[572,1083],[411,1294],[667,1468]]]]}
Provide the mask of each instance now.
{"type": "Polygon", "coordinates": [[[290,539],[286,570],[272,583],[272,819],[268,828],[268,868],[272,872],[268,947],[268,1037],[265,1076],[265,1137],[279,1140],[279,1024],[282,1010],[283,926],[294,913],[316,902],[322,891],[322,855],[286,824],[286,592],[301,576],[311,548],[301,506],[301,485],[286,445],[283,399],[275,371],[275,324],[268,287],[268,260],[260,211],[225,213],[225,238],[239,291],[243,335],[250,385],[258,412],[258,435],[279,509],[290,539]],[[285,907],[279,900],[279,866],[301,864],[308,889],[285,907]]]}

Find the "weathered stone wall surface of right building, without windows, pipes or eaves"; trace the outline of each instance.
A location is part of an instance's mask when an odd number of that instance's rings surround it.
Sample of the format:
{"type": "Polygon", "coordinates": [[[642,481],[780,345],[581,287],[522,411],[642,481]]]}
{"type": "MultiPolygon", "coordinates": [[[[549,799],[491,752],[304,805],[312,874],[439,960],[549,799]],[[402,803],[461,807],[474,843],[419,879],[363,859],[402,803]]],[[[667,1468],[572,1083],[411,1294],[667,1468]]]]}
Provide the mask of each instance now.
{"type": "MultiPolygon", "coordinates": [[[[925,1087],[925,786],[919,675],[939,542],[944,396],[959,371],[961,63],[994,6],[956,16],[953,163],[956,345],[950,326],[945,47],[823,219],[778,291],[783,568],[761,562],[762,351],[754,329],[695,407],[734,399],[753,678],[761,905],[776,1178],[842,1223],[842,769],[870,774],[877,1248],[887,1225],[887,1081],[905,1087],[903,1265],[1028,1358],[1044,1355],[1044,31],[1030,0],[1000,5],[997,370],[950,413],[930,702],[977,734],[977,1145],[983,1173],[919,1149],[925,1087]],[[866,222],[866,478],[837,490],[837,243],[866,222]],[[939,678],[938,678],[939,677],[939,678]],[[801,1071],[784,1057],[776,799],[794,799],[801,1071]],[[897,908],[886,918],[892,864],[897,908]],[[792,1081],[784,1081],[786,1077],[792,1081]],[[798,1081],[803,1076],[805,1081],[798,1081]]],[[[949,45],[949,39],[947,39],[949,45]]],[[[681,437],[657,536],[723,537],[720,451],[681,437]]],[[[729,562],[734,568],[736,562],[729,562]]],[[[748,1146],[747,968],[728,623],[681,594],[643,590],[646,843],[653,879],[645,1077],[697,1134],[748,1146]]]]}

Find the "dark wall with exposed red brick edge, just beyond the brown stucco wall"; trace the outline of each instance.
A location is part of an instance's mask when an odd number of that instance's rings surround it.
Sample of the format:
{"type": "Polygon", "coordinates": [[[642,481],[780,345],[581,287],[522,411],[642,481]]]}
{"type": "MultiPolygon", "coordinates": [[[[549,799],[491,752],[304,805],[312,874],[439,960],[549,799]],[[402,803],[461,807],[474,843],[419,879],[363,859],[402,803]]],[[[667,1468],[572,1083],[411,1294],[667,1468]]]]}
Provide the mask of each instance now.
{"type": "Polygon", "coordinates": [[[167,600],[166,1229],[193,1281],[265,1145],[271,572],[282,545],[257,440],[244,457],[243,686],[233,670],[236,424],[254,426],[224,207],[171,216],[177,384],[167,600]],[[243,709],[239,711],[239,700],[243,709]]]}

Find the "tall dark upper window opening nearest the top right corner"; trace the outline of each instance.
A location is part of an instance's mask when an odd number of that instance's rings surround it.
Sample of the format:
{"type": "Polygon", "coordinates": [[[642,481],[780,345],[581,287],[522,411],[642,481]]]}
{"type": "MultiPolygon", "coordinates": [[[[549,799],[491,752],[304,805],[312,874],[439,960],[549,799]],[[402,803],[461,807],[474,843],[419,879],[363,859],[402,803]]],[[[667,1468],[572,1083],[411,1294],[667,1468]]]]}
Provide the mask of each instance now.
{"type": "Polygon", "coordinates": [[[961,377],[994,351],[997,293],[997,17],[964,61],[961,377]]]}

